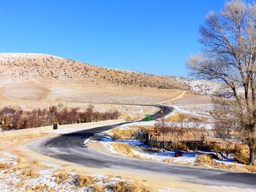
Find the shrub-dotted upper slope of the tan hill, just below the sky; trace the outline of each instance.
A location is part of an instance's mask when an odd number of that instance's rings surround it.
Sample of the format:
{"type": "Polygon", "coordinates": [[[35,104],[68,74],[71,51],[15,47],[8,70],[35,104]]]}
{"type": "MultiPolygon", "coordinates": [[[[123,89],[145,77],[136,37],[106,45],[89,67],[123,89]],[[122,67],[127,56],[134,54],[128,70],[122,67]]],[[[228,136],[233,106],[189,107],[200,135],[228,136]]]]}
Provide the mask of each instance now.
{"type": "Polygon", "coordinates": [[[121,87],[188,90],[173,77],[91,66],[66,58],[29,53],[1,53],[0,76],[22,80],[94,82],[121,87]]]}

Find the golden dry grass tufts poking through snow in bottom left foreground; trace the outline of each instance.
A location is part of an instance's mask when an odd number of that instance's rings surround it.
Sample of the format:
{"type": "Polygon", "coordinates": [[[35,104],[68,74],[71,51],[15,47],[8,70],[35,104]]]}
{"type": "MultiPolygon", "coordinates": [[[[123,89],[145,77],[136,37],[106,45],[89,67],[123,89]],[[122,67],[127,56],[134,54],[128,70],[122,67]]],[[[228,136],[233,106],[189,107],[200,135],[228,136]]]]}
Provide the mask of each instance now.
{"type": "MultiPolygon", "coordinates": [[[[10,175],[10,173],[15,172],[15,174],[20,177],[22,180],[18,183],[10,181],[9,185],[13,185],[16,188],[21,188],[26,185],[26,192],[41,192],[41,191],[48,191],[48,192],[55,192],[53,188],[49,188],[47,183],[40,183],[38,185],[31,184],[31,179],[39,177],[39,169],[45,169],[49,168],[48,166],[45,166],[44,164],[40,163],[39,161],[28,161],[24,157],[18,157],[16,159],[18,164],[11,165],[9,164],[0,164],[1,169],[6,170],[3,174],[1,174],[0,177],[3,179],[10,175]],[[8,169],[7,169],[8,168],[8,169]]],[[[50,167],[53,169],[52,167],[50,167]]],[[[75,172],[73,170],[72,172],[75,172]]],[[[110,184],[110,178],[113,176],[105,177],[102,182],[103,183],[109,183],[109,185],[102,186],[97,184],[99,181],[98,178],[93,177],[91,175],[84,175],[84,174],[76,174],[74,177],[71,176],[69,172],[67,172],[66,169],[58,168],[53,169],[53,177],[55,178],[55,181],[59,185],[59,191],[65,191],[63,188],[63,183],[70,183],[72,189],[78,190],[78,188],[83,187],[89,187],[90,191],[93,192],[103,192],[105,189],[109,188],[114,191],[131,191],[131,192],[143,192],[146,191],[146,188],[138,183],[130,183],[127,181],[121,182],[121,183],[115,183],[113,186],[112,183],[110,184]]],[[[121,178],[121,177],[120,177],[121,178]]]]}

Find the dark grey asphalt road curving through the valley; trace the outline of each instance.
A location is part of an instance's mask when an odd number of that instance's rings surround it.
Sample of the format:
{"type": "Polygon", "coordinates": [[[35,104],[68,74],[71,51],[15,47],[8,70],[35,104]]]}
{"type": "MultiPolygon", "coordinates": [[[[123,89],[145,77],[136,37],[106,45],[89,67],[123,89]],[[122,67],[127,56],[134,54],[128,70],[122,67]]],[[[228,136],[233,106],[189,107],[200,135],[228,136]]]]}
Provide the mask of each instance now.
{"type": "MultiPolygon", "coordinates": [[[[156,105],[154,107],[159,107],[162,110],[162,106],[156,105]]],[[[163,107],[164,115],[167,115],[172,110],[172,107],[163,107]]],[[[152,119],[156,120],[161,117],[162,113],[159,111],[152,116],[152,119]]],[[[119,123],[112,126],[101,126],[71,134],[63,134],[59,137],[32,142],[28,146],[32,150],[36,150],[44,155],[88,167],[127,169],[131,173],[134,170],[142,170],[154,174],[167,174],[181,177],[189,183],[253,188],[256,190],[256,174],[227,172],[219,169],[203,169],[193,166],[180,166],[161,162],[144,161],[135,158],[102,153],[83,145],[83,142],[86,139],[93,137],[95,134],[124,124],[127,123],[119,123]]],[[[97,139],[97,137],[94,136],[94,139],[97,139]]]]}

